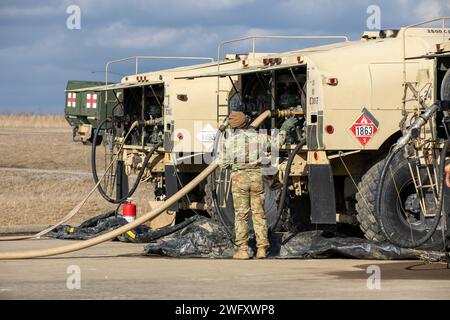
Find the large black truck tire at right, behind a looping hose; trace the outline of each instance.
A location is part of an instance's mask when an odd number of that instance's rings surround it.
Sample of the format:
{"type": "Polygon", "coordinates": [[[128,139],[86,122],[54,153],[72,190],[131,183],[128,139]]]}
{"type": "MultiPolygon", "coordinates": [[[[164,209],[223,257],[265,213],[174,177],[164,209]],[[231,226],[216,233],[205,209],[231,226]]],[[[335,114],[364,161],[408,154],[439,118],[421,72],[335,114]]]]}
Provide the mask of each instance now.
{"type": "MultiPolygon", "coordinates": [[[[369,240],[382,242],[387,236],[379,225],[384,226],[391,239],[420,239],[429,229],[433,218],[421,219],[422,213],[418,207],[418,201],[414,200],[415,188],[408,167],[408,162],[399,152],[393,159],[390,170],[386,175],[381,198],[380,215],[375,212],[378,184],[380,183],[381,171],[384,160],[376,163],[362,177],[358,184],[359,192],[356,194],[357,219],[364,235],[369,240]],[[393,177],[393,178],[392,178],[393,177]],[[394,183],[395,181],[395,183],[394,183]],[[400,197],[398,196],[400,194],[400,197]],[[367,204],[366,204],[367,202],[367,204]],[[425,222],[424,222],[425,221],[425,222]]],[[[423,183],[427,184],[425,173],[422,175],[423,183]]],[[[449,188],[444,195],[444,210],[450,208],[449,188]]],[[[430,205],[430,204],[429,204],[430,205]]],[[[430,207],[432,208],[432,207],[430,207]]],[[[448,225],[447,218],[447,225],[448,225]]],[[[440,228],[433,234],[431,239],[420,248],[442,248],[443,237],[440,228]]]]}

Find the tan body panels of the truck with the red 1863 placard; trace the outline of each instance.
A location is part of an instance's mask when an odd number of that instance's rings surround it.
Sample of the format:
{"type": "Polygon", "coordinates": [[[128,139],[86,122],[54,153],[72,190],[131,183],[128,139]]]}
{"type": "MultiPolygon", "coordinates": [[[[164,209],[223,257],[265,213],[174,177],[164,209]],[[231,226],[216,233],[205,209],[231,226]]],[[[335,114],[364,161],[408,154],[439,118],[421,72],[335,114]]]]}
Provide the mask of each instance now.
{"type": "MultiPolygon", "coordinates": [[[[429,30],[408,29],[406,58],[435,52],[437,44],[448,41],[448,36],[429,30]]],[[[450,29],[445,30],[450,34],[450,29]]],[[[282,64],[291,64],[301,56],[307,65],[307,124],[311,124],[313,115],[323,114],[322,129],[317,131],[323,134],[322,149],[377,150],[399,131],[404,95],[403,31],[400,29],[395,38],[349,41],[265,57],[281,57],[282,64]],[[328,85],[328,78],[336,78],[338,84],[328,85]],[[377,132],[365,145],[350,130],[363,108],[379,121],[377,132]],[[327,125],[334,127],[332,134],[324,132],[327,125]]],[[[428,98],[432,101],[434,61],[421,58],[407,60],[405,65],[406,82],[415,83],[416,89],[430,86],[428,98]]],[[[412,95],[408,93],[406,98],[412,95]]],[[[416,101],[407,102],[406,108],[418,109],[419,105],[416,101]]]]}

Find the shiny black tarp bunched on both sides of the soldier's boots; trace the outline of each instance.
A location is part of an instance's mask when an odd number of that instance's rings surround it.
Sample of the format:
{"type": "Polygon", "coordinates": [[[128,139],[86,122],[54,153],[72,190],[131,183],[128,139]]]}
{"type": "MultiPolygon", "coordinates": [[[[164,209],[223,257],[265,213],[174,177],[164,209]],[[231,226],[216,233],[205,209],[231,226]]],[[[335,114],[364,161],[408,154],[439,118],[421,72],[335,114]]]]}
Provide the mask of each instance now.
{"type": "MultiPolygon", "coordinates": [[[[439,259],[442,254],[423,250],[404,249],[389,243],[375,243],[366,239],[328,236],[323,231],[307,231],[298,234],[272,234],[270,239],[271,258],[277,259],[319,259],[346,257],[355,259],[439,259]]],[[[251,251],[255,241],[250,241],[251,251]]],[[[170,257],[230,258],[234,245],[225,229],[211,219],[200,218],[157,243],[145,246],[148,255],[170,257]]]]}

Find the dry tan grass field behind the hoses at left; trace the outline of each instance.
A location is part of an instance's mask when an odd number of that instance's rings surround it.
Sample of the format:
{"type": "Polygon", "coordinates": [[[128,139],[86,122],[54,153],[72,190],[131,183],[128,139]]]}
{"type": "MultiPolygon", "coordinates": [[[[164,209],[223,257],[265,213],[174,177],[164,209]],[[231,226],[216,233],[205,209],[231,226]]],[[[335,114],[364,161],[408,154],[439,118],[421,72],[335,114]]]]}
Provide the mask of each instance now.
{"type": "MultiPolygon", "coordinates": [[[[69,212],[94,186],[90,150],[72,141],[63,116],[0,115],[0,226],[52,224],[69,212]]],[[[141,184],[138,214],[151,195],[141,184]]],[[[69,224],[114,208],[95,192],[69,224]]]]}

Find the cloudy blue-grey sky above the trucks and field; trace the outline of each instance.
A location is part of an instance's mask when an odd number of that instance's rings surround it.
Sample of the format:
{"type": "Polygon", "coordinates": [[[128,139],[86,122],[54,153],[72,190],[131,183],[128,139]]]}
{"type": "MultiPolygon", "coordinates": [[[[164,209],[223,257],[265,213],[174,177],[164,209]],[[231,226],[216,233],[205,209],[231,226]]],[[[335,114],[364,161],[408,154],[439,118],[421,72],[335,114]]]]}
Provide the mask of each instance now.
{"type": "MultiPolygon", "coordinates": [[[[133,55],[215,57],[220,41],[246,35],[347,35],[367,29],[367,8],[381,28],[450,16],[448,0],[0,0],[0,113],[62,113],[67,80],[104,80],[105,63],[133,55]],[[67,28],[77,5],[79,30],[67,28]]],[[[282,51],[317,42],[263,42],[282,51]]],[[[227,47],[246,52],[248,45],[227,47]]],[[[153,61],[145,70],[180,65],[153,61]]],[[[113,80],[132,64],[112,69],[113,80]]]]}

